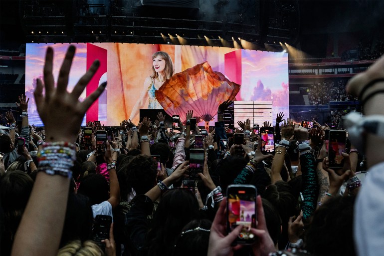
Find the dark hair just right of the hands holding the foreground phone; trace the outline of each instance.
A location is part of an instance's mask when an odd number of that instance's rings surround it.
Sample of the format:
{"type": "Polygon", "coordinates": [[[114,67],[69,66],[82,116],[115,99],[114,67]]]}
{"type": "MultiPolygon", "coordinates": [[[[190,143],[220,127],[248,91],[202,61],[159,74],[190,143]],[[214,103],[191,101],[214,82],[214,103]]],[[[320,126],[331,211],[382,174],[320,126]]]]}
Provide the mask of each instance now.
{"type": "Polygon", "coordinates": [[[268,233],[276,245],[281,234],[281,219],[276,208],[266,199],[262,199],[268,233]]]}

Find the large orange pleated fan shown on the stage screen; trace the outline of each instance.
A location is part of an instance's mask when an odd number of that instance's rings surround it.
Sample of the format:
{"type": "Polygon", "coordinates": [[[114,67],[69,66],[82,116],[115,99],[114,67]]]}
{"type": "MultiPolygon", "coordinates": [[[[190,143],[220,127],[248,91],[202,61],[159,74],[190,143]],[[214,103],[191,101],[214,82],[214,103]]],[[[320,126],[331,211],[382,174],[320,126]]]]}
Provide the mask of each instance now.
{"type": "Polygon", "coordinates": [[[197,64],[173,75],[155,96],[169,115],[179,115],[183,123],[186,113],[210,121],[217,108],[227,99],[234,100],[240,85],[229,81],[220,72],[214,72],[208,62],[197,64]]]}

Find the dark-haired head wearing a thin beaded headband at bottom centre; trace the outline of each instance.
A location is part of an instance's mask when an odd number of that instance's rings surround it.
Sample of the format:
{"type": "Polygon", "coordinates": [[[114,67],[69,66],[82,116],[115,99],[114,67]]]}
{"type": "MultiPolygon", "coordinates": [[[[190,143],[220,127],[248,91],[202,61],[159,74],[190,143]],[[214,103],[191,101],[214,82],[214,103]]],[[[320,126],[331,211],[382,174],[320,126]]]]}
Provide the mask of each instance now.
{"type": "Polygon", "coordinates": [[[206,255],[208,253],[209,230],[211,225],[212,222],[209,220],[193,220],[188,223],[176,239],[175,250],[172,255],[206,255]]]}

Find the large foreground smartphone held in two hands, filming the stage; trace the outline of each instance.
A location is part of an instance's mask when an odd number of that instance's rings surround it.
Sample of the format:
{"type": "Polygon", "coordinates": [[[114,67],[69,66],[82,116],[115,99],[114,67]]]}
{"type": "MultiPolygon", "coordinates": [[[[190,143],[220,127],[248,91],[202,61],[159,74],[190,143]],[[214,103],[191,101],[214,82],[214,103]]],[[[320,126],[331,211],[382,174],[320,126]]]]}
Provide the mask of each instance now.
{"type": "Polygon", "coordinates": [[[253,185],[227,187],[227,231],[230,233],[238,225],[243,225],[233,244],[251,245],[256,241],[256,236],[248,231],[255,227],[256,196],[256,187],[253,185]]]}

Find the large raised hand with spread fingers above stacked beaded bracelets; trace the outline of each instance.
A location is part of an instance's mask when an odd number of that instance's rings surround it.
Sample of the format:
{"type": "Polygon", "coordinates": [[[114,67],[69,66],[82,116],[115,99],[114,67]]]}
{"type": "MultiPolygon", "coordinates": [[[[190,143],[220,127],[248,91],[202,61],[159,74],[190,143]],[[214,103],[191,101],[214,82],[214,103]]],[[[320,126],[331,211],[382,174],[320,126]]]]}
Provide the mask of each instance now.
{"type": "MultiPolygon", "coordinates": [[[[52,73],[53,49],[51,47],[47,48],[45,56],[44,84],[40,79],[37,79],[34,97],[37,111],[45,126],[47,141],[74,142],[85,112],[107,86],[107,82],[104,82],[83,102],[78,100],[100,66],[100,62],[95,60],[88,71],[77,82],[72,92],[67,92],[68,75],[75,55],[75,49],[73,45],[68,47],[60,68],[57,88],[54,87],[55,81],[52,73]],[[43,95],[43,87],[45,87],[45,96],[43,95]]],[[[27,105],[22,104],[22,106],[25,108],[27,105]]]]}

